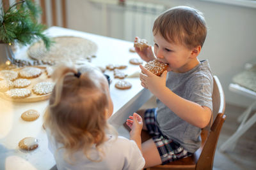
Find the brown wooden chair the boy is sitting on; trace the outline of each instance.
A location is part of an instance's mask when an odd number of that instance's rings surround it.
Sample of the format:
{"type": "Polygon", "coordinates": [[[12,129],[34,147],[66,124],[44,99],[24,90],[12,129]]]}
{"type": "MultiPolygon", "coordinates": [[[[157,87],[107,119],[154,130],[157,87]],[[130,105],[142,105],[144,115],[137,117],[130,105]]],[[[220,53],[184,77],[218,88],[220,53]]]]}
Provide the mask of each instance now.
{"type": "Polygon", "coordinates": [[[160,169],[212,169],[214,154],[220,136],[221,127],[225,121],[225,96],[221,83],[217,76],[214,76],[214,87],[212,93],[212,117],[214,123],[211,129],[202,129],[201,138],[202,144],[200,148],[190,157],[179,159],[165,165],[148,167],[147,170],[160,169]]]}

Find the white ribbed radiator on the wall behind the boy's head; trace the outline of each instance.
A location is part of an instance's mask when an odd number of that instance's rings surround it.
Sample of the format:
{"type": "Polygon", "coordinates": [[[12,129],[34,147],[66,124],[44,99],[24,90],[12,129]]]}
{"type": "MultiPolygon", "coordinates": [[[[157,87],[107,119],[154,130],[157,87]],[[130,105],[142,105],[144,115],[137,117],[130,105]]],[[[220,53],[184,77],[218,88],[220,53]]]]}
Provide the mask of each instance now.
{"type": "Polygon", "coordinates": [[[154,45],[152,27],[154,20],[165,10],[161,4],[127,1],[124,7],[124,39],[134,41],[135,36],[147,39],[154,45]]]}

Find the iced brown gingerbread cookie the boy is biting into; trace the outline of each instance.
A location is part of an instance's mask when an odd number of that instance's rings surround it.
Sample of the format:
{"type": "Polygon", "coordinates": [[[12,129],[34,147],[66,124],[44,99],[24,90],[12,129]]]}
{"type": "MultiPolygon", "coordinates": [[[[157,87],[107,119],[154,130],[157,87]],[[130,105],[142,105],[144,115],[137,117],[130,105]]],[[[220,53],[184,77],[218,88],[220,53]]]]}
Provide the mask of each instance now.
{"type": "Polygon", "coordinates": [[[159,60],[155,59],[155,60],[149,61],[147,64],[145,64],[144,67],[149,71],[151,71],[152,73],[156,74],[157,76],[161,76],[161,74],[165,70],[167,70],[168,65],[163,62],[159,62],[159,60]]]}

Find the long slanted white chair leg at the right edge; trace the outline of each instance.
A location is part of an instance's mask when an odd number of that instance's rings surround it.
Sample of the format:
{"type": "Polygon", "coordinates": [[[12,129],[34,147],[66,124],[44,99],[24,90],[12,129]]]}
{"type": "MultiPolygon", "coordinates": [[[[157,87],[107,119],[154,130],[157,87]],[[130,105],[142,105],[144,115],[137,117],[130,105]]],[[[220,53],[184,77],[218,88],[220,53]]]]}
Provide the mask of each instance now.
{"type": "Polygon", "coordinates": [[[249,120],[247,120],[247,122],[245,122],[243,124],[243,126],[239,127],[237,129],[237,131],[230,138],[228,138],[227,141],[225,141],[225,143],[223,143],[220,146],[220,151],[225,152],[227,150],[227,148],[230,148],[230,145],[234,145],[234,143],[236,143],[237,139],[242,134],[244,134],[244,132],[246,132],[250,127],[252,127],[252,125],[255,122],[256,122],[256,112],[254,113],[254,115],[249,120]]]}

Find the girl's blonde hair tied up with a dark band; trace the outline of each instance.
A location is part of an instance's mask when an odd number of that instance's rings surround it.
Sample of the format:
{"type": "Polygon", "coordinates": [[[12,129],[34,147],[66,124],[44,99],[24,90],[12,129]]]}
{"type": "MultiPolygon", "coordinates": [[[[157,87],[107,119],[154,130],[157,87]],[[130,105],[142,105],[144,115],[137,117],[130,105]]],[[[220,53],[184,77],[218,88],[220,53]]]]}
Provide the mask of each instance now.
{"type": "MultiPolygon", "coordinates": [[[[51,130],[55,141],[63,145],[61,148],[65,148],[65,159],[72,158],[72,153],[78,150],[83,150],[90,159],[90,148],[95,144],[100,151],[106,132],[116,135],[106,120],[109,92],[104,75],[88,66],[83,70],[78,78],[74,75],[76,69],[67,66],[56,69],[53,74],[56,85],[44,115],[45,127],[51,130]]],[[[93,161],[101,159],[100,156],[93,161]]]]}

